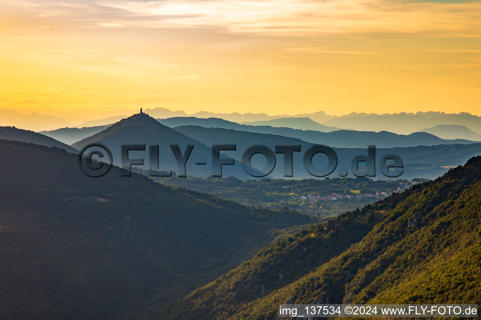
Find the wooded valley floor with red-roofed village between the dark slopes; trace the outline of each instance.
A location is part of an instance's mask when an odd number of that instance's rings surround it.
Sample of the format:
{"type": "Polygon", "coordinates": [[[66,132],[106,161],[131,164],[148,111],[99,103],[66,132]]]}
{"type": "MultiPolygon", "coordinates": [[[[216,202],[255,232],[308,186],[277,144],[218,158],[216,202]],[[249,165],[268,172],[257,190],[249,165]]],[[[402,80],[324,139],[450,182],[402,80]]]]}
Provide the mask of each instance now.
{"type": "Polygon", "coordinates": [[[244,205],[269,209],[289,208],[319,217],[336,216],[379,201],[393,192],[402,192],[424,178],[373,180],[364,178],[251,179],[235,177],[175,179],[164,184],[203,191],[244,205]]]}

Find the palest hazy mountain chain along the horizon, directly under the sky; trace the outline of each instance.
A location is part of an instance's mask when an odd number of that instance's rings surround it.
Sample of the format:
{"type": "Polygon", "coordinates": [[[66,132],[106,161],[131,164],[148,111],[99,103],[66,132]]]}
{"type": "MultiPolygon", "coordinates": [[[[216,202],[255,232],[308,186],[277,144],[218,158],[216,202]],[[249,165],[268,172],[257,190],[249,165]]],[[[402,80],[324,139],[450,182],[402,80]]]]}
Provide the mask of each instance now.
{"type": "MultiPolygon", "coordinates": [[[[173,111],[165,107],[146,108],[144,110],[156,119],[167,119],[173,117],[188,117],[189,115],[182,111],[173,111]]],[[[340,128],[344,130],[357,130],[357,131],[389,131],[397,134],[410,134],[412,132],[420,131],[426,128],[432,128],[437,125],[459,125],[466,126],[468,130],[474,131],[481,135],[481,117],[471,115],[467,112],[460,112],[458,114],[446,114],[444,112],[416,112],[407,113],[399,112],[393,114],[375,114],[375,113],[357,113],[351,112],[342,116],[331,116],[324,111],[316,111],[313,113],[302,113],[297,115],[267,115],[266,113],[213,113],[208,111],[199,111],[190,115],[190,117],[196,118],[219,118],[225,119],[231,122],[246,123],[257,121],[269,121],[280,118],[309,118],[317,123],[328,127],[340,128]]],[[[125,116],[115,116],[106,119],[92,120],[76,125],[76,127],[94,127],[112,124],[125,118],[125,116]]],[[[51,116],[41,116],[36,113],[32,113],[27,116],[13,109],[0,109],[0,125],[16,125],[19,128],[30,129],[35,131],[43,130],[55,130],[65,127],[75,127],[71,123],[51,116]],[[25,120],[26,118],[28,120],[25,120]],[[49,127],[50,126],[50,127],[49,127]]],[[[280,120],[279,120],[280,121],[280,120]]],[[[298,120],[291,120],[298,121],[298,120]]],[[[256,123],[256,124],[268,124],[268,123],[256,123]]],[[[295,123],[286,123],[281,125],[290,128],[297,127],[295,123]]],[[[273,125],[273,126],[278,126],[273,125]]],[[[324,127],[319,127],[324,128],[324,127]]],[[[303,127],[303,129],[309,129],[303,127]]],[[[315,128],[310,128],[315,129],[315,128]]],[[[321,129],[322,131],[328,131],[321,129]]],[[[445,139],[467,139],[468,136],[454,136],[445,137],[445,139]]],[[[469,138],[467,140],[470,140],[469,138]]]]}

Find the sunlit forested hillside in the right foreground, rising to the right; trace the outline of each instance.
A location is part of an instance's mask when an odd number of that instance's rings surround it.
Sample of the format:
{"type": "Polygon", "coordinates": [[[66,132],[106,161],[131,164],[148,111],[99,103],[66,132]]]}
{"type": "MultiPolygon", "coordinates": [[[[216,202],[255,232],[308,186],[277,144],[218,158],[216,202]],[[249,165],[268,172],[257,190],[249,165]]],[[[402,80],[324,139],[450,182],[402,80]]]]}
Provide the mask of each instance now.
{"type": "Polygon", "coordinates": [[[282,303],[480,304],[480,194],[478,156],[274,243],[162,313],[274,320],[282,303]]]}

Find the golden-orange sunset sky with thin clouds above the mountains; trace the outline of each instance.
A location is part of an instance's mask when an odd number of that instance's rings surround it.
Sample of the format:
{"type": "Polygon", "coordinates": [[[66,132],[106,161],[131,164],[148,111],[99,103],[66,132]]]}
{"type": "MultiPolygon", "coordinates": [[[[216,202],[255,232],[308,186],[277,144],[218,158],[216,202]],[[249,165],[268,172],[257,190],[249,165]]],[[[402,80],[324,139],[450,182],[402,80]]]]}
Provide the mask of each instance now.
{"type": "Polygon", "coordinates": [[[481,1],[0,0],[0,108],[481,116],[481,1]]]}

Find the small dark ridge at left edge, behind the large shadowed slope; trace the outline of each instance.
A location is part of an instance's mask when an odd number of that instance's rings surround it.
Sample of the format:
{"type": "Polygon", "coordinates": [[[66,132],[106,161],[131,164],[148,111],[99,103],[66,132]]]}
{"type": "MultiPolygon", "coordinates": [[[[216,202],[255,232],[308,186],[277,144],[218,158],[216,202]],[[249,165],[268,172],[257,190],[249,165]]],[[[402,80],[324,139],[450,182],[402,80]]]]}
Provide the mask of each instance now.
{"type": "Polygon", "coordinates": [[[72,148],[68,144],[55,140],[51,137],[37,133],[30,130],[18,129],[15,127],[0,127],[0,139],[30,142],[35,144],[46,145],[48,147],[58,147],[65,149],[70,153],[78,153],[75,148],[72,148]]]}

